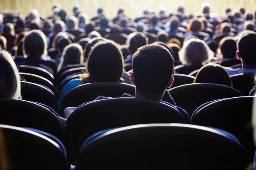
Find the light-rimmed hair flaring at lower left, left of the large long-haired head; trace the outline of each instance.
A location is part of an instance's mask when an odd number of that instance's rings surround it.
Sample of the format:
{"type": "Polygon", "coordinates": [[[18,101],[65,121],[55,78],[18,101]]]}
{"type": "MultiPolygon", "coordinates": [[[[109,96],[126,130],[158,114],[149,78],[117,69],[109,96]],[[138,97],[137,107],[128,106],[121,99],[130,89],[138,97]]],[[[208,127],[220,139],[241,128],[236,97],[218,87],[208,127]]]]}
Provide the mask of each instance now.
{"type": "Polygon", "coordinates": [[[63,66],[70,64],[81,64],[83,61],[83,48],[81,45],[76,43],[67,45],[61,55],[61,62],[58,66],[58,72],[63,66]]]}

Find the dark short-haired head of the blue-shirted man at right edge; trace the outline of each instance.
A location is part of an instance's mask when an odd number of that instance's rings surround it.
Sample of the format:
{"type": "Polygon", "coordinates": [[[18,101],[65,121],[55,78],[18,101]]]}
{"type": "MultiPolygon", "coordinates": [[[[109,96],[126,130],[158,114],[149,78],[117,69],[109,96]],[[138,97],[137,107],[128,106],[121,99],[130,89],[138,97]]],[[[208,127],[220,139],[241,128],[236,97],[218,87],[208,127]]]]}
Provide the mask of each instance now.
{"type": "Polygon", "coordinates": [[[241,59],[248,65],[256,64],[256,34],[245,33],[238,41],[238,51],[241,59]]]}

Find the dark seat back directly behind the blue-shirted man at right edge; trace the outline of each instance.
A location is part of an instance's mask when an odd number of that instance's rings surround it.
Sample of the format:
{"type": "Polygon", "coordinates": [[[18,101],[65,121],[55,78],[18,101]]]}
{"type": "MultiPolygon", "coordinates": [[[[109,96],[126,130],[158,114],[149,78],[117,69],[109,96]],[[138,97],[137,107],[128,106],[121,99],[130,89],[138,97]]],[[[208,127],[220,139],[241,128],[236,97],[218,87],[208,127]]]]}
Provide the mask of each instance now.
{"type": "Polygon", "coordinates": [[[244,96],[249,96],[254,85],[254,75],[255,74],[235,74],[230,76],[233,88],[241,91],[244,96]]]}

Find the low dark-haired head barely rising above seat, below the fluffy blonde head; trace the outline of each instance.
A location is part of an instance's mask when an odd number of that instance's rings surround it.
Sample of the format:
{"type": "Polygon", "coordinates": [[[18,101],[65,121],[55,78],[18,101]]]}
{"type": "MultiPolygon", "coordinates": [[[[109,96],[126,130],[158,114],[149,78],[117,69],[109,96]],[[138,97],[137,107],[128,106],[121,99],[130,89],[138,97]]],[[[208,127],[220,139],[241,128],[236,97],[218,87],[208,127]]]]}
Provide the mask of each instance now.
{"type": "Polygon", "coordinates": [[[218,64],[204,65],[195,76],[194,83],[214,83],[232,87],[227,71],[218,64]]]}

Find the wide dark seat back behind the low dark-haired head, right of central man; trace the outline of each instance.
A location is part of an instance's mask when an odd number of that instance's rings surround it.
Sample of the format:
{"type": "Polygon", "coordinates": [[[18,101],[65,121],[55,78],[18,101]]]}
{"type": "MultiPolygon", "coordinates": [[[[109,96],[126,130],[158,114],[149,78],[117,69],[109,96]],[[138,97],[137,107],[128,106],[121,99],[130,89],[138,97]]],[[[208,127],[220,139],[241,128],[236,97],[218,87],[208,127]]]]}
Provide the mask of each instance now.
{"type": "Polygon", "coordinates": [[[196,108],[204,103],[217,99],[243,96],[240,91],[234,88],[208,83],[181,85],[168,91],[176,105],[183,108],[189,116],[192,116],[196,108]]]}

